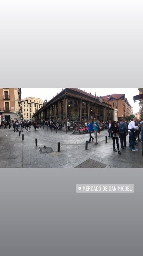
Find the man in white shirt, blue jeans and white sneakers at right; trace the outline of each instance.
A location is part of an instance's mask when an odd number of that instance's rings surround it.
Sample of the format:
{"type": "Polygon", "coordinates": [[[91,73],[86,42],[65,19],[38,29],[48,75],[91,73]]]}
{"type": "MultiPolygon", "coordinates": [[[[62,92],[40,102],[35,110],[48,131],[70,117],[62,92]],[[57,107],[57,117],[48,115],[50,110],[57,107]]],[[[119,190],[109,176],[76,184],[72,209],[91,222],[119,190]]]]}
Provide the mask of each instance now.
{"type": "Polygon", "coordinates": [[[133,121],[131,121],[128,124],[128,134],[130,135],[130,146],[129,149],[131,149],[132,151],[137,151],[137,149],[135,148],[135,141],[136,141],[136,137],[135,137],[135,129],[139,128],[139,124],[136,126],[135,122],[137,121],[137,118],[134,117],[133,121]]]}

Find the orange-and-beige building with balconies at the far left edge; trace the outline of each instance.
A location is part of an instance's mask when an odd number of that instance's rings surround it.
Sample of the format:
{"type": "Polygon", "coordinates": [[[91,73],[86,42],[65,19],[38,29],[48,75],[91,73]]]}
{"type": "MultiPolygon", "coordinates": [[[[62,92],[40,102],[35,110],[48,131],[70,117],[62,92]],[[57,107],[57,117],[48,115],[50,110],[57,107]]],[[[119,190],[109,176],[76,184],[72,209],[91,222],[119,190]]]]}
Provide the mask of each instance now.
{"type": "Polygon", "coordinates": [[[21,119],[21,88],[0,88],[0,122],[21,119]]]}

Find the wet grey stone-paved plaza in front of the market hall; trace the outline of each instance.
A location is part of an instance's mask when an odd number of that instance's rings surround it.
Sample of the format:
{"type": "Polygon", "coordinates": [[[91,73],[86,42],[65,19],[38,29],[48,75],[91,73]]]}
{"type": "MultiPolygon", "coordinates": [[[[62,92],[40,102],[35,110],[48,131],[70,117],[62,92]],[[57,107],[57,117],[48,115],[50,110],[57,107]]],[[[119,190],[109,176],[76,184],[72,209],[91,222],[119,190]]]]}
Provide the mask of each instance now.
{"type": "MultiPolygon", "coordinates": [[[[21,128],[19,128],[21,129],[21,128]]],[[[92,134],[94,137],[94,133],[92,134]]],[[[121,149],[121,154],[113,152],[112,138],[108,138],[107,130],[97,135],[98,144],[94,141],[85,149],[85,142],[89,140],[89,134],[66,134],[66,130],[52,130],[41,127],[31,132],[24,129],[13,132],[13,128],[0,129],[0,162],[1,168],[142,168],[142,145],[138,142],[137,152],[129,150],[129,136],[127,147],[121,149]],[[22,140],[22,134],[24,140],[22,140]],[[106,143],[107,136],[107,143],[106,143]],[[37,139],[37,146],[35,144],[37,139]],[[60,152],[58,152],[60,142],[60,152]],[[41,148],[51,149],[49,153],[42,153],[41,148]]]]}

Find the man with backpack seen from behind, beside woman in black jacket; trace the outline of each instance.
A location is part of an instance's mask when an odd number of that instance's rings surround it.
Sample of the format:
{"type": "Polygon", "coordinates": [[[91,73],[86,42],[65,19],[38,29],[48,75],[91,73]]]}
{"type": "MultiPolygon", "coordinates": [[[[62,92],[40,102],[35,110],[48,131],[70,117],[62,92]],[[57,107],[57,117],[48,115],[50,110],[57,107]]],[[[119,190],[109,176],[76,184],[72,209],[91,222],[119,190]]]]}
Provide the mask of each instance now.
{"type": "Polygon", "coordinates": [[[126,122],[124,122],[124,118],[120,118],[120,123],[118,123],[119,127],[119,135],[120,135],[120,143],[121,143],[121,148],[124,149],[126,147],[126,136],[128,135],[128,126],[126,122]],[[124,145],[123,145],[124,142],[124,145]]]}

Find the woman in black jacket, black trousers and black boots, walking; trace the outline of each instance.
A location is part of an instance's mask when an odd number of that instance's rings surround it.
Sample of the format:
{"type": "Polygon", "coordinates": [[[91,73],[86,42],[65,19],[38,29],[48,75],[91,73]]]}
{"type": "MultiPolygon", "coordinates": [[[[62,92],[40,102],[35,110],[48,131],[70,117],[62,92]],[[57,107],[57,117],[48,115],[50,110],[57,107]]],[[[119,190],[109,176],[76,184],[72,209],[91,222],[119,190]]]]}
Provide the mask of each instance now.
{"type": "Polygon", "coordinates": [[[117,122],[116,121],[113,121],[111,123],[111,137],[112,137],[112,140],[113,140],[113,151],[117,152],[117,150],[115,149],[115,140],[116,140],[116,144],[117,144],[117,149],[118,149],[118,154],[121,154],[121,152],[119,151],[119,128],[118,128],[118,125],[117,125],[117,122]]]}

